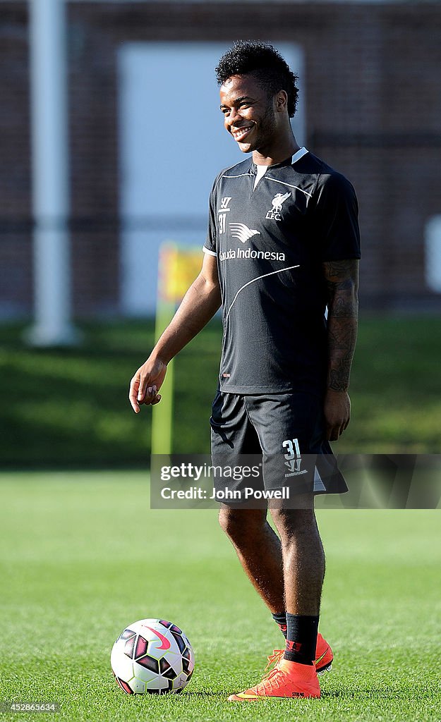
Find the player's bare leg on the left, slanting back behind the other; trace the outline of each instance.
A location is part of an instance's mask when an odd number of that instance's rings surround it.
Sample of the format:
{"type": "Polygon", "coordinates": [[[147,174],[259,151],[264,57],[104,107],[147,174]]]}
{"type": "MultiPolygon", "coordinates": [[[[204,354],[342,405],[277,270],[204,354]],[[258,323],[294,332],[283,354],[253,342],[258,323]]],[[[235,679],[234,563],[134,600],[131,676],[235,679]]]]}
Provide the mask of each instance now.
{"type": "Polygon", "coordinates": [[[219,523],[231,539],[237,556],[270,612],[283,612],[281,540],[267,523],[266,509],[220,507],[219,523]]]}

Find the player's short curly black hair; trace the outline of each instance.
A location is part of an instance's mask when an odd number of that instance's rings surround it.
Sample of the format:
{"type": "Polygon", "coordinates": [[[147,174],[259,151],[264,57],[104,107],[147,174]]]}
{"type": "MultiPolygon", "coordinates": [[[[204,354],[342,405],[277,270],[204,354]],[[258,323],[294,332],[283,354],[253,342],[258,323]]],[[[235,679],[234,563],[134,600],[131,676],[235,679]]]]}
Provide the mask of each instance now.
{"type": "Polygon", "coordinates": [[[260,40],[238,40],[223,54],[216,68],[219,85],[232,75],[247,74],[253,74],[270,95],[285,90],[288,95],[288,115],[290,118],[294,116],[299,96],[296,86],[298,77],[273,45],[260,40]]]}

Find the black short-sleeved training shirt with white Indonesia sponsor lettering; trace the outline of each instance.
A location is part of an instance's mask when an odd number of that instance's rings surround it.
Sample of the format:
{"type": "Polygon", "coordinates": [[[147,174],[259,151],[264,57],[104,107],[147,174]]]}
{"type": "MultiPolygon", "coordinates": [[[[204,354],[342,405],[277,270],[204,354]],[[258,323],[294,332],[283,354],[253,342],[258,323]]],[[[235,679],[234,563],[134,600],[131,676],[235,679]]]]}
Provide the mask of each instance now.
{"type": "Polygon", "coordinates": [[[360,257],[351,183],[302,148],[254,188],[251,158],[210,194],[205,253],[218,259],[220,390],[322,393],[327,376],[323,261],[360,257]]]}

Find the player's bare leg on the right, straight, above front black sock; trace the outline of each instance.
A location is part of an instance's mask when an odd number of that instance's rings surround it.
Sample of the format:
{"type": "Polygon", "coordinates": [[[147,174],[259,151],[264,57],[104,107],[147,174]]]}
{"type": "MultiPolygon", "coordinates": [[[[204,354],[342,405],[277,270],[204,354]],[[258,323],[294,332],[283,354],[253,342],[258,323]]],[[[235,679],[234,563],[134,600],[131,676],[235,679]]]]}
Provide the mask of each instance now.
{"type": "Polygon", "coordinates": [[[299,497],[297,509],[271,509],[281,537],[285,609],[290,614],[315,616],[325,576],[325,553],[317,529],[312,495],[299,497]]]}

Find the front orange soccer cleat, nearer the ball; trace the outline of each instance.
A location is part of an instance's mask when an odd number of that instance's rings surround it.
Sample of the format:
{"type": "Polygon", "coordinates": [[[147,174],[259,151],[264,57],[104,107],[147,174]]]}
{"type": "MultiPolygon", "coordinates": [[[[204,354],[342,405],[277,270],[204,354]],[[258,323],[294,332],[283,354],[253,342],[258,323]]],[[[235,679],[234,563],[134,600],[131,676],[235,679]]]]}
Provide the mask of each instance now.
{"type": "Polygon", "coordinates": [[[230,695],[228,702],[254,702],[268,697],[320,697],[320,684],[314,664],[298,664],[281,659],[262,682],[237,695],[230,695]]]}

